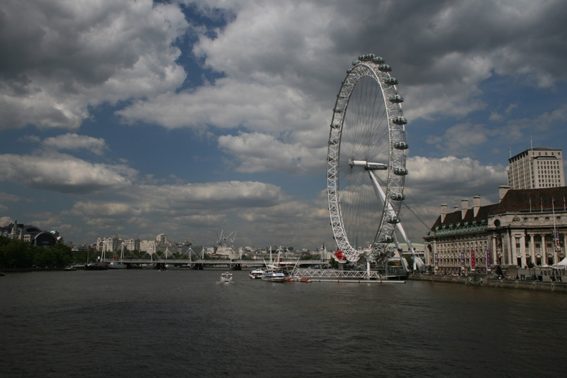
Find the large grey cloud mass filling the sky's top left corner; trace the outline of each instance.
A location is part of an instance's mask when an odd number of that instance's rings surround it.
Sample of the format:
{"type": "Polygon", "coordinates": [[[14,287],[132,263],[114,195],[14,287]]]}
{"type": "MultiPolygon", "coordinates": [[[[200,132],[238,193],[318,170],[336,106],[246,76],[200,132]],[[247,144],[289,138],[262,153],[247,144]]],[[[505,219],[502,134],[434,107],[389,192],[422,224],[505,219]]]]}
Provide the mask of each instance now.
{"type": "Polygon", "coordinates": [[[17,1],[0,14],[0,128],[78,128],[88,106],[153,96],[183,82],[173,4],[17,1]]]}

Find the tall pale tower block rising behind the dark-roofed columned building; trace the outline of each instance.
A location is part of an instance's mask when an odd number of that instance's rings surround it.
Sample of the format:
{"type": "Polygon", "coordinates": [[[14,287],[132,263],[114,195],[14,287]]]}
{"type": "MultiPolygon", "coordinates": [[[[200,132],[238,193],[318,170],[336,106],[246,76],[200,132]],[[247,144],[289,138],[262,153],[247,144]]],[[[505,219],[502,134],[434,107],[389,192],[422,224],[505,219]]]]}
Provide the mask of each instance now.
{"type": "Polygon", "coordinates": [[[563,151],[530,148],[508,159],[507,176],[511,189],[564,187],[563,151]]]}

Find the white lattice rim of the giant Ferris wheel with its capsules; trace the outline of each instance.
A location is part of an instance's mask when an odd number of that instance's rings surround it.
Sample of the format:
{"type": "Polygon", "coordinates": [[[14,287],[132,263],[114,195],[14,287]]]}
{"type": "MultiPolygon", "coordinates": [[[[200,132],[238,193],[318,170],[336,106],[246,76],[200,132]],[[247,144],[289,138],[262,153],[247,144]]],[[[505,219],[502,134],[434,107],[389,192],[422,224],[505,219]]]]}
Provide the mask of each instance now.
{"type": "MultiPolygon", "coordinates": [[[[337,94],[337,101],[333,109],[333,116],[330,125],[330,134],[327,150],[327,197],[329,211],[331,217],[331,226],[337,248],[342,250],[347,260],[356,262],[361,255],[366,252],[376,254],[386,249],[386,245],[392,240],[395,230],[395,224],[399,222],[398,214],[400,212],[400,204],[403,200],[403,189],[405,174],[406,150],[408,148],[405,143],[405,123],[407,120],[403,117],[401,103],[403,97],[398,94],[397,80],[391,77],[391,67],[386,65],[381,57],[373,54],[363,55],[359,60],[353,62],[353,66],[347,71],[347,76],[342,81],[337,94]],[[381,93],[381,99],[386,111],[386,121],[388,128],[388,165],[386,190],[381,194],[383,206],[381,210],[380,221],[376,226],[376,233],[371,244],[365,250],[358,247],[358,243],[354,244],[349,239],[347,230],[345,229],[345,221],[342,215],[342,203],[339,198],[341,191],[340,176],[341,168],[344,165],[344,153],[341,153],[342,135],[344,131],[345,114],[348,113],[349,101],[353,95],[353,91],[357,89],[359,81],[362,79],[374,80],[378,84],[381,93]],[[343,160],[341,162],[340,160],[343,160]]],[[[349,126],[346,126],[349,127],[349,126]]],[[[382,139],[384,137],[382,136],[382,139]]],[[[384,140],[382,140],[384,142],[384,140]]],[[[363,167],[366,171],[373,169],[383,169],[378,167],[379,163],[369,162],[365,160],[351,160],[350,167],[363,167]],[[366,164],[366,165],[365,165],[366,164]]],[[[373,174],[369,173],[372,178],[373,174]]],[[[380,189],[380,185],[375,183],[380,189]]]]}

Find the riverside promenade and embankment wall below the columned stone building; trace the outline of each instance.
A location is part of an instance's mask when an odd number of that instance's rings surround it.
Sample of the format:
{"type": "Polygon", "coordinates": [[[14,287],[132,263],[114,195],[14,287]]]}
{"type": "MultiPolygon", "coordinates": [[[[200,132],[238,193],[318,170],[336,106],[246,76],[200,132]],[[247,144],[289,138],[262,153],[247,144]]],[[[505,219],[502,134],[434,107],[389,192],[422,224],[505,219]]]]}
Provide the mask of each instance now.
{"type": "Polygon", "coordinates": [[[500,287],[504,289],[524,289],[553,291],[567,294],[567,282],[522,281],[520,279],[499,279],[492,274],[469,274],[468,277],[453,277],[431,274],[410,274],[408,279],[415,281],[449,282],[483,287],[500,287]]]}

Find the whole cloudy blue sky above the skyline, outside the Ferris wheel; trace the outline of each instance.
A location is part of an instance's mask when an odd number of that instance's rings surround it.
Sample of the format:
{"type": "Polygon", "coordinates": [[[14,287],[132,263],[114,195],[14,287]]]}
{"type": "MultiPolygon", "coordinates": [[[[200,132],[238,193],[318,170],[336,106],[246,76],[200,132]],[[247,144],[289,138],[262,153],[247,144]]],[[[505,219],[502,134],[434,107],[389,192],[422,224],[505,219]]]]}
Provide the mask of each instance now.
{"type": "Polygon", "coordinates": [[[564,148],[567,2],[4,0],[0,224],[332,248],[326,153],[356,57],[393,67],[414,243],[564,148]]]}

